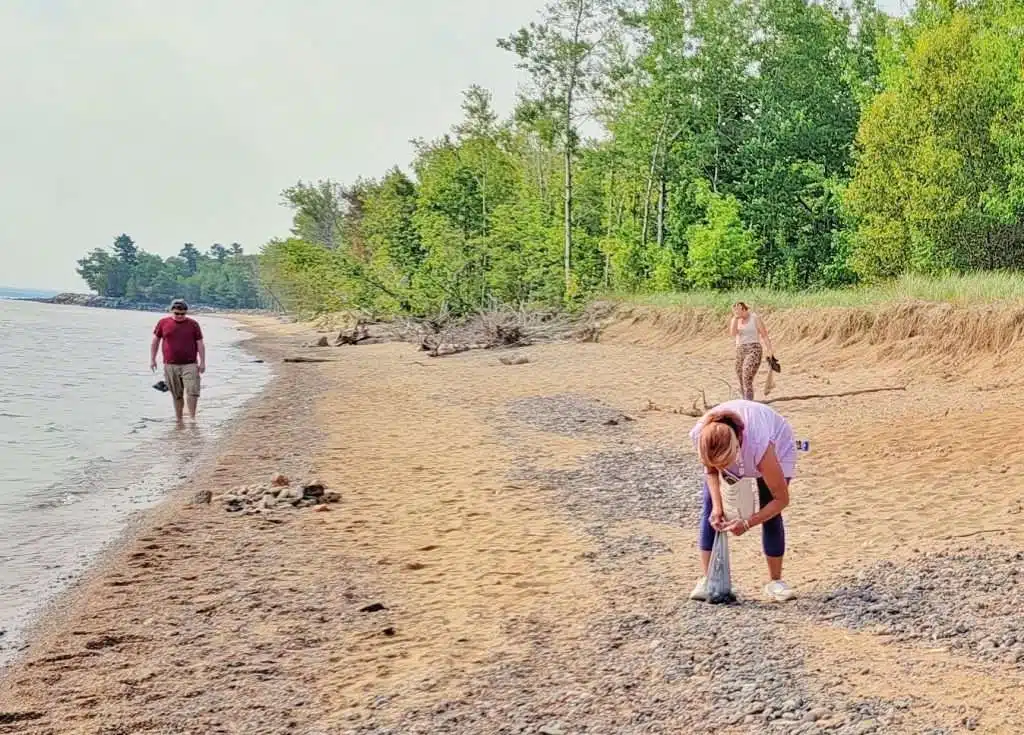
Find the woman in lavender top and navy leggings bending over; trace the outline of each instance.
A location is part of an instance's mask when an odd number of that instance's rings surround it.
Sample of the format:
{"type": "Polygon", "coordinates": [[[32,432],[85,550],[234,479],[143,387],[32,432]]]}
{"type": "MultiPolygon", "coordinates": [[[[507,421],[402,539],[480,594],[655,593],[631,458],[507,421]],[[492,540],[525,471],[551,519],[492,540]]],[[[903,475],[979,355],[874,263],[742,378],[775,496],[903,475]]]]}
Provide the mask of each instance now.
{"type": "Polygon", "coordinates": [[[693,427],[690,438],[705,467],[699,541],[705,575],[690,599],[708,599],[708,565],[715,534],[741,536],[755,526],[761,526],[761,544],[768,562],[765,596],[776,602],[791,599],[794,593],[782,581],[785,528],[781,515],[790,505],[790,481],[797,469],[797,442],[790,423],[763,403],[730,400],[706,414],[693,427]],[[757,478],[760,510],[748,520],[725,520],[722,473],[757,478]]]}

